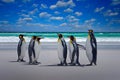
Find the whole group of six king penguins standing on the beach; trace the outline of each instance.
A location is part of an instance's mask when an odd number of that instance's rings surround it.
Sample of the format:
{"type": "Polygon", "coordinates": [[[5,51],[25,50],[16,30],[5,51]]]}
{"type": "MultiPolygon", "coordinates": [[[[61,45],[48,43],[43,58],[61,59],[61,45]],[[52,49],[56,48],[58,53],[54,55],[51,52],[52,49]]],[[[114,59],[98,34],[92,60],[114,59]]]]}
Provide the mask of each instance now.
{"type": "MultiPolygon", "coordinates": [[[[58,41],[57,41],[57,52],[58,52],[58,58],[60,63],[58,66],[81,66],[79,62],[79,48],[82,48],[86,50],[86,55],[88,57],[88,60],[90,64],[89,66],[92,66],[93,64],[96,65],[97,62],[97,42],[96,38],[94,36],[93,30],[88,30],[88,37],[86,40],[86,45],[80,45],[76,42],[76,38],[73,35],[68,36],[69,42],[68,45],[63,37],[62,34],[58,35],[58,41]],[[70,63],[67,63],[67,53],[69,50],[69,58],[70,63]]],[[[31,65],[38,65],[40,62],[38,62],[39,54],[41,51],[41,44],[40,40],[42,38],[37,36],[32,36],[29,45],[28,45],[28,56],[29,56],[29,64],[31,65]]],[[[26,42],[24,39],[24,35],[19,35],[19,42],[17,46],[17,53],[18,53],[18,59],[17,62],[25,62],[24,57],[27,50],[26,42]]]]}

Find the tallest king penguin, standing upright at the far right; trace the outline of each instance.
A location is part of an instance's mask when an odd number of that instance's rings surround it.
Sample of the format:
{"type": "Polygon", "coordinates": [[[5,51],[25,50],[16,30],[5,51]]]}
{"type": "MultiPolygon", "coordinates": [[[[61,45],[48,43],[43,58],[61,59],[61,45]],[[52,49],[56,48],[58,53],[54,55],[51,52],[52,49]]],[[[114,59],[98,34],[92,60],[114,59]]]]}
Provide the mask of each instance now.
{"type": "Polygon", "coordinates": [[[88,30],[88,38],[86,41],[86,54],[90,61],[89,65],[93,63],[96,65],[97,60],[97,43],[94,37],[93,30],[88,30]]]}

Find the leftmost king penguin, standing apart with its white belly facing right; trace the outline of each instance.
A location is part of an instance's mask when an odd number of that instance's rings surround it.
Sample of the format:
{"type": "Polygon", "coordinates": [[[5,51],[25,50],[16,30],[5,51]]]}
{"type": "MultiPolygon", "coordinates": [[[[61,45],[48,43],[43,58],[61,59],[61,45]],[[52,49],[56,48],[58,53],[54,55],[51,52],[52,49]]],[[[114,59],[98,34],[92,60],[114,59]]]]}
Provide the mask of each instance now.
{"type": "Polygon", "coordinates": [[[23,38],[24,35],[20,34],[19,35],[19,42],[18,42],[18,46],[17,46],[17,53],[18,53],[18,60],[17,62],[25,62],[25,60],[23,60],[23,58],[25,57],[25,53],[26,53],[26,42],[25,39],[23,38]]]}

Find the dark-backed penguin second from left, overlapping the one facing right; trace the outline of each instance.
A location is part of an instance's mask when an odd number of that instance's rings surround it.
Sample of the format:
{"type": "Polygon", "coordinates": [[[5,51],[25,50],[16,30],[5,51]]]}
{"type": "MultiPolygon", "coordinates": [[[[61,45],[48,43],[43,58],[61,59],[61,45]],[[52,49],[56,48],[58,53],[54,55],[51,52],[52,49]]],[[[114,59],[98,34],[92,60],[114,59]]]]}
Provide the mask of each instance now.
{"type": "Polygon", "coordinates": [[[33,36],[28,46],[29,64],[34,64],[33,62],[35,59],[35,49],[34,49],[35,40],[36,40],[36,36],[33,36]]]}

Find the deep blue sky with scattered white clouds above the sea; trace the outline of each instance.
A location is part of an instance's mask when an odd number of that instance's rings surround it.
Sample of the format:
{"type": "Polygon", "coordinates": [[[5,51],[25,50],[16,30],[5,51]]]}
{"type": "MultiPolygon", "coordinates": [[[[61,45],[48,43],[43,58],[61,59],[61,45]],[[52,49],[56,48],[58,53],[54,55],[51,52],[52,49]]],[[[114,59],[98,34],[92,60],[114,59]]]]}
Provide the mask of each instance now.
{"type": "Polygon", "coordinates": [[[120,0],[0,0],[0,32],[120,32],[120,0]]]}

